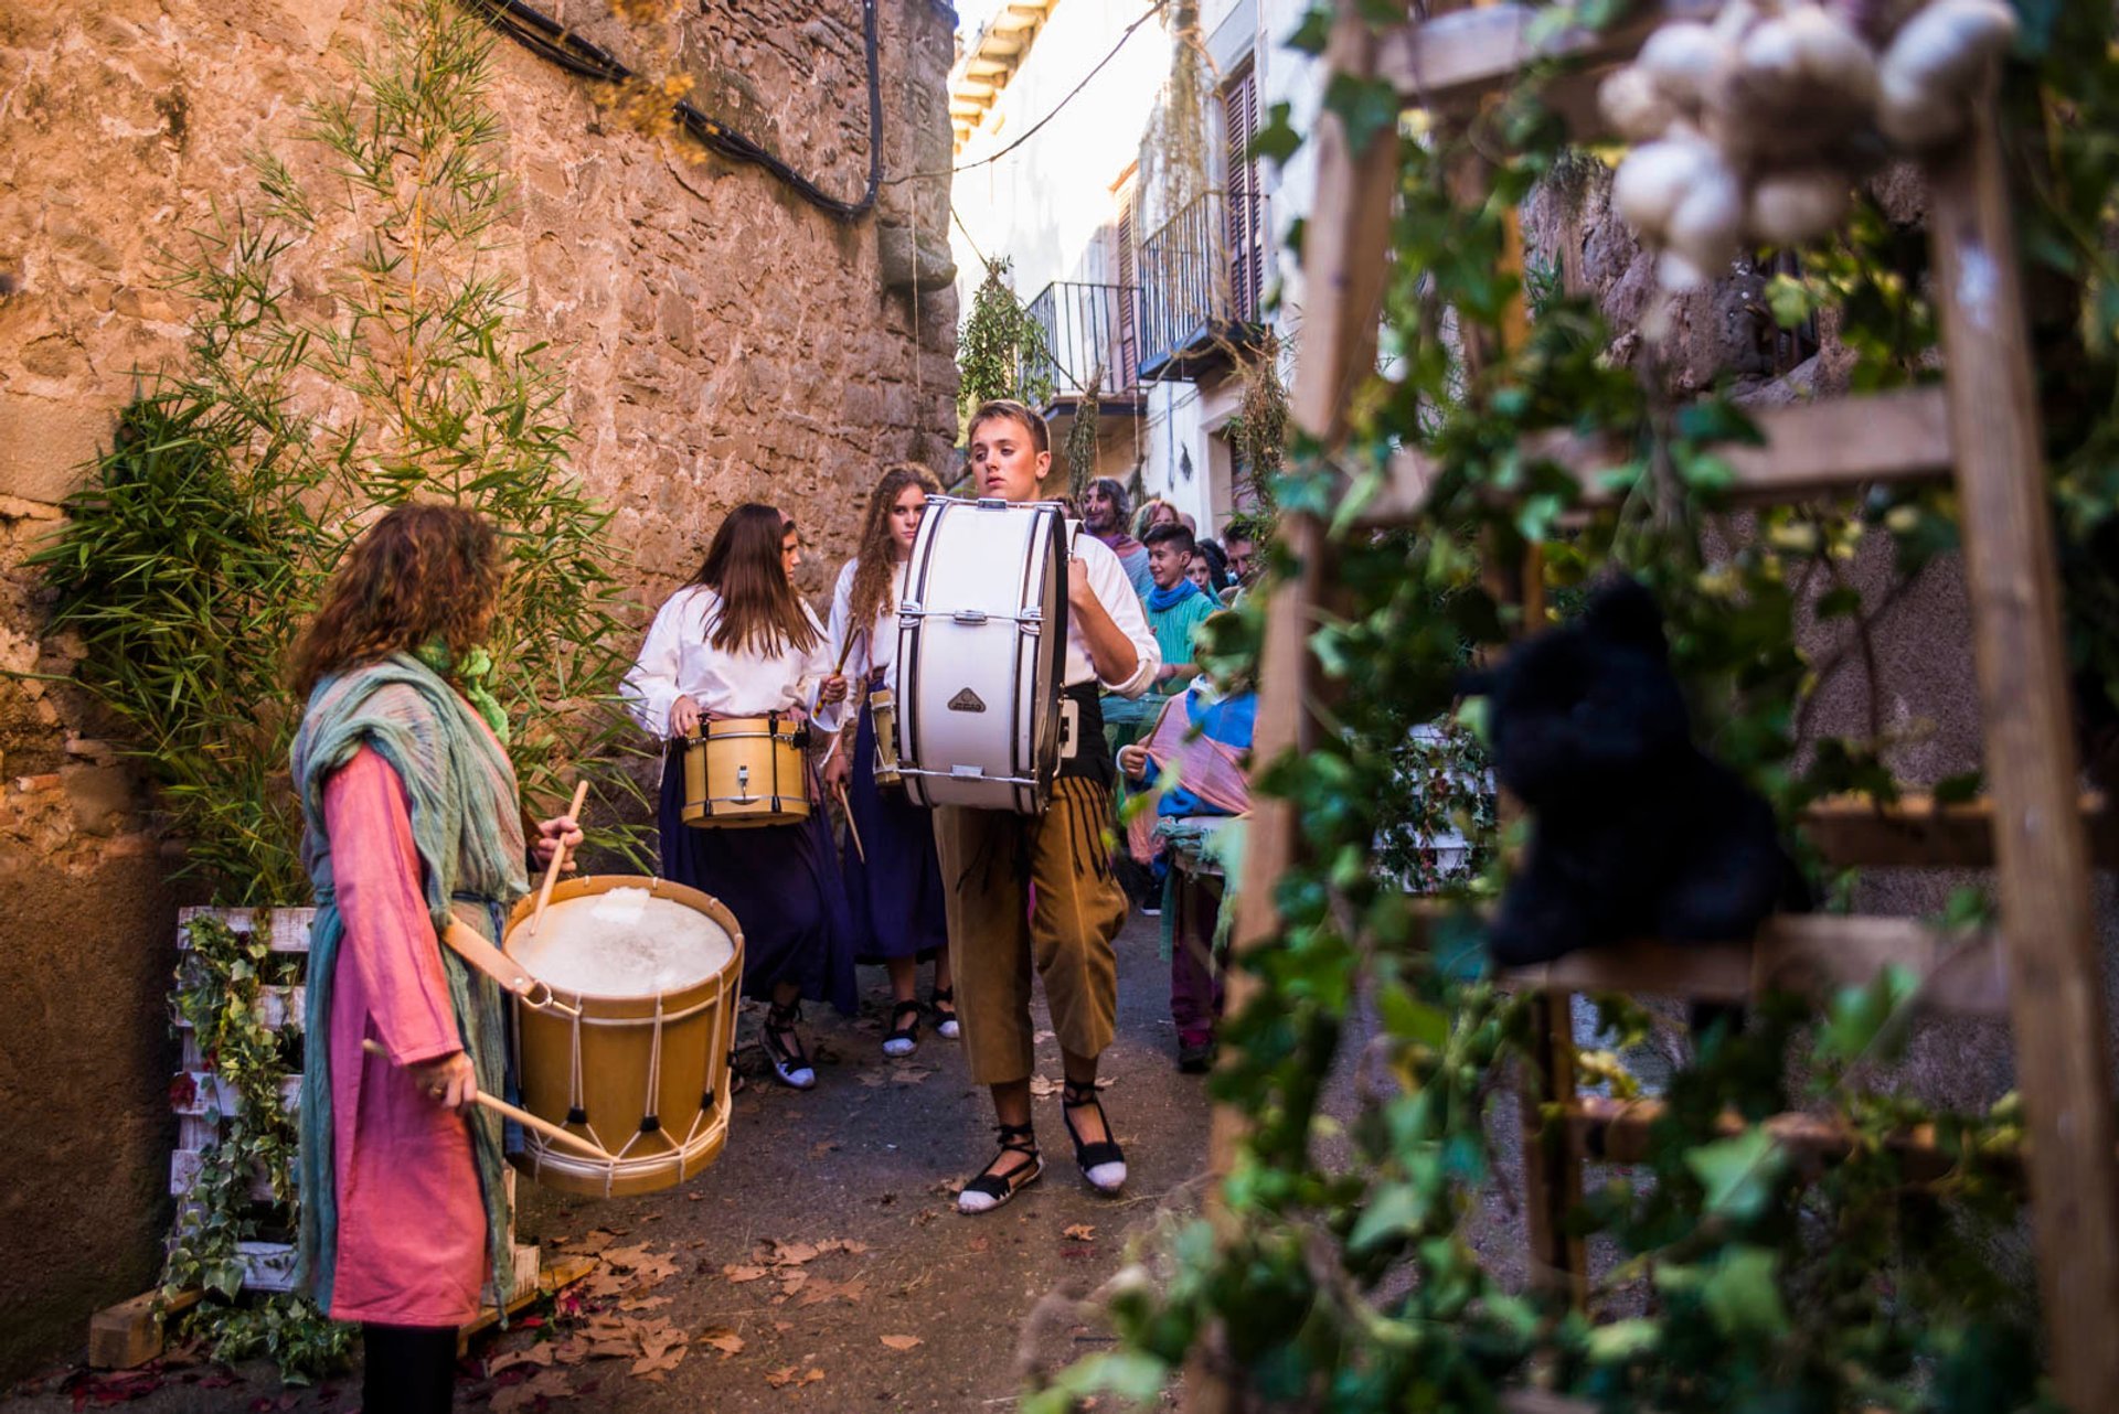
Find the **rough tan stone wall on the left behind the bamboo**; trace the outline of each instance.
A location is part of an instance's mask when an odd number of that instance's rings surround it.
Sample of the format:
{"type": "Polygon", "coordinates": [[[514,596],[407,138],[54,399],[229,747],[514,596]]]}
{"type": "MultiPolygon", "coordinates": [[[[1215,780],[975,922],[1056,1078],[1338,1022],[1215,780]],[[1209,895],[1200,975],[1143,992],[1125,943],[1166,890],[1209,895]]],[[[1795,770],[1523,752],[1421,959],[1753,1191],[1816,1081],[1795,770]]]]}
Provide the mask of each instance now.
{"type": "MultiPolygon", "coordinates": [[[[64,675],[25,552],[138,373],[182,351],[157,286],[246,155],[290,150],[343,89],[379,6],[354,0],[8,0],[0,6],[0,671],[64,675]]],[[[695,102],[833,195],[867,180],[856,0],[687,6],[648,34],[547,4],[621,55],[674,55],[695,102]]],[[[954,15],[882,0],[884,171],[949,167],[954,15]]],[[[886,182],[841,222],[752,165],[644,138],[583,80],[496,49],[519,210],[500,241],[534,337],[564,349],[576,466],[617,512],[642,616],[720,514],[773,500],[822,597],[882,461],[947,466],[956,298],[947,176],[886,182]],[[918,275],[918,290],[913,277],[918,275]]],[[[0,1378],[148,1287],[167,1223],[163,845],[64,684],[0,677],[0,1378]]]]}

